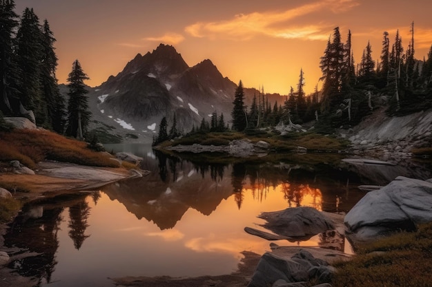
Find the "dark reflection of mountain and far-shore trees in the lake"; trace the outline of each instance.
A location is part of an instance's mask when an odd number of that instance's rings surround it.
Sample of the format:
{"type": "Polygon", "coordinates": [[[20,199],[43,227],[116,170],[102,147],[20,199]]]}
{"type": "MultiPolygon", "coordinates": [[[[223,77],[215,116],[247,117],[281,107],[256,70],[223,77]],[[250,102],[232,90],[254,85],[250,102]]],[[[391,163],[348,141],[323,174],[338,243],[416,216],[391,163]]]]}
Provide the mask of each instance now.
{"type": "Polygon", "coordinates": [[[309,196],[317,209],[348,211],[364,195],[357,173],[332,164],[218,163],[183,160],[156,152],[142,168],[151,173],[110,184],[104,192],[119,200],[138,219],[153,221],[159,228],[173,228],[190,208],[210,215],[231,195],[242,208],[245,192],[265,200],[269,190],[280,189],[288,206],[300,206],[309,196]]]}

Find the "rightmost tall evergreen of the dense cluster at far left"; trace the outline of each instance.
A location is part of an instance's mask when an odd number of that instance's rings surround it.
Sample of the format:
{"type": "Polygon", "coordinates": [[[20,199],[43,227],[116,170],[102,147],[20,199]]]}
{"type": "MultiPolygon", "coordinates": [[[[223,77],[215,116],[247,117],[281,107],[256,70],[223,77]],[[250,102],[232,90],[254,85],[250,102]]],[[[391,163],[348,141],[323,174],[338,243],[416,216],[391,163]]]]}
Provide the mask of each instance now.
{"type": "Polygon", "coordinates": [[[41,86],[43,91],[43,102],[47,105],[48,125],[59,134],[63,134],[66,105],[57,85],[57,56],[54,43],[56,39],[50,30],[48,21],[43,22],[42,39],[42,62],[41,62],[41,86]]]}

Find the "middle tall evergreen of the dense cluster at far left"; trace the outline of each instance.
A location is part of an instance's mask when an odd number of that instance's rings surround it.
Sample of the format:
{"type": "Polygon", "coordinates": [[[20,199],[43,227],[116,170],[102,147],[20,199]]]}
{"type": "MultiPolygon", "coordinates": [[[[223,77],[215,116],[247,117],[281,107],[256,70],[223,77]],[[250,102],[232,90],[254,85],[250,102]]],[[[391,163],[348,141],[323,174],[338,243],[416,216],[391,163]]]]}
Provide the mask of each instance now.
{"type": "Polygon", "coordinates": [[[31,109],[38,124],[46,124],[46,103],[41,90],[41,62],[43,35],[39,18],[33,9],[26,8],[17,32],[17,57],[21,71],[21,103],[31,109]]]}

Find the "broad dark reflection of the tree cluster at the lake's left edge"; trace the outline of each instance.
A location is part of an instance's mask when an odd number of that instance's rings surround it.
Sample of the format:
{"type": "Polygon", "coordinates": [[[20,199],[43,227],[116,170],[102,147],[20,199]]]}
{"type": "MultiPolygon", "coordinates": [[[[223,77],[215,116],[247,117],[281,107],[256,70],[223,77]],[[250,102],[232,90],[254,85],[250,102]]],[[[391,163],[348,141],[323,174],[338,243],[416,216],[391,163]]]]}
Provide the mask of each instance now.
{"type": "Polygon", "coordinates": [[[4,235],[5,245],[41,255],[19,259],[19,264],[12,262],[10,268],[17,269],[20,275],[38,278],[39,284],[43,279],[50,283],[57,265],[55,254],[59,248],[57,233],[62,211],[63,207],[44,209],[43,206],[27,206],[23,209],[4,235]],[[42,211],[42,214],[35,215],[36,210],[42,211]]]}

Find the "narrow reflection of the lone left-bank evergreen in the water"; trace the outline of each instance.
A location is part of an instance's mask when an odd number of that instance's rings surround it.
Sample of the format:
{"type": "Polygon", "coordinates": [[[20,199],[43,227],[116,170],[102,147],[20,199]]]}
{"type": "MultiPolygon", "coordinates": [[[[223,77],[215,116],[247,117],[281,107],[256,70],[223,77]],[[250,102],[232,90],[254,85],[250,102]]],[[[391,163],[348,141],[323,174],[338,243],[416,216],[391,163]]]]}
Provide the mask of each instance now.
{"type": "Polygon", "coordinates": [[[81,248],[84,240],[90,237],[86,235],[86,229],[89,226],[87,224],[88,216],[90,215],[90,206],[86,200],[69,207],[69,237],[74,242],[74,246],[77,250],[81,248]]]}

